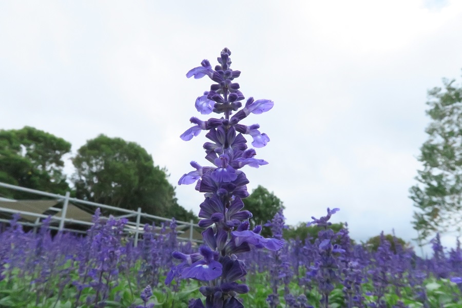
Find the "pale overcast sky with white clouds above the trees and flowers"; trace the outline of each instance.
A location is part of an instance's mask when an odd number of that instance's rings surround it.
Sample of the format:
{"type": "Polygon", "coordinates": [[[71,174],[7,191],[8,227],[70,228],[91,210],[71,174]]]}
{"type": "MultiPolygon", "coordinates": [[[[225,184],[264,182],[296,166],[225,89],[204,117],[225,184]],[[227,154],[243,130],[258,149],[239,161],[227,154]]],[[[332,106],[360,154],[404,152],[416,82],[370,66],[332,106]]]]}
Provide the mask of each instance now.
{"type": "MultiPolygon", "coordinates": [[[[244,96],[275,102],[244,120],[271,139],[248,189],[273,191],[288,224],[339,207],[357,240],[410,240],[427,90],[460,81],[461,29],[458,0],[2,1],[0,129],[33,126],[73,153],[100,133],[137,142],[177,186],[191,160],[207,165],[204,133],[179,136],[208,119],[194,102],[211,82],[185,73],[228,47],[244,96]]],[[[176,191],[198,213],[194,186],[176,191]]]]}

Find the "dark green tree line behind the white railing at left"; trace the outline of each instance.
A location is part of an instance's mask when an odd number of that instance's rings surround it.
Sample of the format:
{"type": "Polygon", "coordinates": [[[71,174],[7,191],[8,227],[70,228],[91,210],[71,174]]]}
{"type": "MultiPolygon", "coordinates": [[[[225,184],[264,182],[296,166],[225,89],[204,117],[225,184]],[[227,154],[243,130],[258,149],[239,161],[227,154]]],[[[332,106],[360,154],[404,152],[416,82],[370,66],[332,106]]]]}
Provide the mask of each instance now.
{"type": "MultiPolygon", "coordinates": [[[[68,141],[33,127],[0,130],[0,182],[60,195],[71,191],[73,197],[87,201],[198,220],[178,204],[167,169],[156,166],[139,144],[100,134],[71,158],[75,172],[68,177],[63,173],[63,156],[70,151],[68,141]]],[[[0,196],[42,198],[6,188],[0,188],[0,196]]]]}

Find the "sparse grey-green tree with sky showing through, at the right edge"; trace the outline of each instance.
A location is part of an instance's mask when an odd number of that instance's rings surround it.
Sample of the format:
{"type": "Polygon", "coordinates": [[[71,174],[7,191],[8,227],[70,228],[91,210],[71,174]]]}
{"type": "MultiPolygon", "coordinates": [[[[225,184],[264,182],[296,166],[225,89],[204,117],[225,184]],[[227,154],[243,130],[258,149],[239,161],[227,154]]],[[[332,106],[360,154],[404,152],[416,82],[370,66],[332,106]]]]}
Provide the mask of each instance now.
{"type": "Polygon", "coordinates": [[[428,140],[420,148],[418,184],[410,188],[413,227],[420,244],[436,232],[460,230],[462,222],[462,87],[443,80],[444,90],[429,91],[428,140]]]}

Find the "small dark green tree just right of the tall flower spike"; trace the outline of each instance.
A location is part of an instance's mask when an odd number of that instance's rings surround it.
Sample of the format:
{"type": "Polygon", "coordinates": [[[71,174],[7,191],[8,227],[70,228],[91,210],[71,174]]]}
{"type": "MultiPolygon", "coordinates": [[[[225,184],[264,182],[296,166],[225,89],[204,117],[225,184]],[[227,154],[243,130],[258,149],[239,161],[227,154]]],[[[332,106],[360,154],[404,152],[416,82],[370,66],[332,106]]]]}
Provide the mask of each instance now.
{"type": "MultiPolygon", "coordinates": [[[[285,208],[282,201],[273,192],[269,192],[261,185],[258,185],[252,194],[242,201],[244,202],[244,209],[252,212],[253,216],[250,220],[252,226],[265,224],[268,220],[273,219],[279,209],[285,208]]],[[[263,228],[262,234],[266,235],[267,232],[269,231],[263,228]]]]}

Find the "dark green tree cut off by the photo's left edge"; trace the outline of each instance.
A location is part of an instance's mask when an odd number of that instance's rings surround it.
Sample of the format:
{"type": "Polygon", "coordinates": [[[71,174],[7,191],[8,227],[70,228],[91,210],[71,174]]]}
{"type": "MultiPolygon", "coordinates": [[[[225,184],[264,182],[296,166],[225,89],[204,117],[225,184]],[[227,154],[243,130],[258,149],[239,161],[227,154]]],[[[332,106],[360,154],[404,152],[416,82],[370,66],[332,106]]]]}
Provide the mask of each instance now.
{"type": "MultiPolygon", "coordinates": [[[[64,139],[33,127],[0,130],[0,182],[64,195],[69,185],[63,175],[63,156],[70,149],[64,139]]],[[[12,189],[1,189],[0,195],[41,198],[12,189]]]]}

